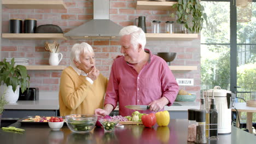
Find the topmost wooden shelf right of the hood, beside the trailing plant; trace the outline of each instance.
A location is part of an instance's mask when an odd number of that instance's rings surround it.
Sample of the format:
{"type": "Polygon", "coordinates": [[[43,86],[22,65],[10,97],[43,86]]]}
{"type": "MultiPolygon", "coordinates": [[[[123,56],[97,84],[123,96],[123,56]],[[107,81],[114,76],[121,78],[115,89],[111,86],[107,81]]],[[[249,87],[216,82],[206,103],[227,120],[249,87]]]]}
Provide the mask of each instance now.
{"type": "Polygon", "coordinates": [[[170,10],[177,2],[137,1],[137,10],[170,10]]]}

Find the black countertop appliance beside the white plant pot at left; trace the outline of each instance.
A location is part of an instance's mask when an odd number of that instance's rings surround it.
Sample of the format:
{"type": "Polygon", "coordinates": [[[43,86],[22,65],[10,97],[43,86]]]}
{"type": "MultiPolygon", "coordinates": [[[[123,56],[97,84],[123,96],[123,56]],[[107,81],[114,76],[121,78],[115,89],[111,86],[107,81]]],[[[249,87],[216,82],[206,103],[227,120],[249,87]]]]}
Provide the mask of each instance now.
{"type": "Polygon", "coordinates": [[[19,99],[18,100],[39,100],[39,88],[33,88],[30,87],[21,93],[21,88],[20,88],[20,94],[19,94],[19,99]]]}

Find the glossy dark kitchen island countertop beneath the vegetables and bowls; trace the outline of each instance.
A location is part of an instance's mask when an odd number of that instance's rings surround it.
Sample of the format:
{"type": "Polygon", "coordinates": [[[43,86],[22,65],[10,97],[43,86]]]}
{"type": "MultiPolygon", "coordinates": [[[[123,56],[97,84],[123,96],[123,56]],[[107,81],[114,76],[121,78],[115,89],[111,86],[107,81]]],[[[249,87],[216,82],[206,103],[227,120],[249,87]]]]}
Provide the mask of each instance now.
{"type": "MultiPolygon", "coordinates": [[[[187,142],[187,119],[171,119],[168,127],[144,128],[143,125],[125,125],[115,128],[111,133],[104,133],[103,128],[95,128],[87,134],[72,133],[66,125],[60,131],[51,131],[48,123],[27,125],[16,122],[12,124],[22,128],[24,133],[0,130],[0,143],[191,143],[187,142]]],[[[232,133],[219,135],[218,141],[208,143],[255,143],[256,136],[236,127],[232,133]]]]}

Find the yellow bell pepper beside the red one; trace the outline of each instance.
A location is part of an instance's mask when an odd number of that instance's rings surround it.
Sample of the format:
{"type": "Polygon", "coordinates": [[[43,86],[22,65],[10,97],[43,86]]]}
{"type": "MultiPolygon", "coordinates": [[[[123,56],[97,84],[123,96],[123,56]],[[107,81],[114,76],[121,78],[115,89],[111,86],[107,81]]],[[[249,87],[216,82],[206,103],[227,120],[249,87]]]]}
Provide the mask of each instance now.
{"type": "Polygon", "coordinates": [[[159,126],[167,126],[170,122],[170,114],[168,111],[156,112],[155,117],[159,126]]]}

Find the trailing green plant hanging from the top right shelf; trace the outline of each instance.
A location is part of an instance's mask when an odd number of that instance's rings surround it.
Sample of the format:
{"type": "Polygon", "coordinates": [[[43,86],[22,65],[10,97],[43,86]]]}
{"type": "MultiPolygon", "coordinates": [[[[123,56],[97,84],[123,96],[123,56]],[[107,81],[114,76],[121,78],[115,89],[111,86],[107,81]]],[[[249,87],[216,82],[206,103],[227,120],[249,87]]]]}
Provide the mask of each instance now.
{"type": "MultiPolygon", "coordinates": [[[[174,4],[172,8],[177,8],[177,23],[184,23],[191,33],[201,31],[206,14],[203,13],[204,8],[199,0],[177,0],[177,4],[174,4]]],[[[174,16],[175,14],[172,13],[171,17],[174,16]]]]}

